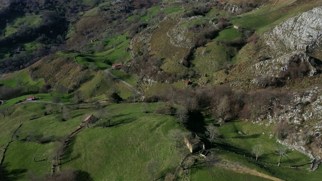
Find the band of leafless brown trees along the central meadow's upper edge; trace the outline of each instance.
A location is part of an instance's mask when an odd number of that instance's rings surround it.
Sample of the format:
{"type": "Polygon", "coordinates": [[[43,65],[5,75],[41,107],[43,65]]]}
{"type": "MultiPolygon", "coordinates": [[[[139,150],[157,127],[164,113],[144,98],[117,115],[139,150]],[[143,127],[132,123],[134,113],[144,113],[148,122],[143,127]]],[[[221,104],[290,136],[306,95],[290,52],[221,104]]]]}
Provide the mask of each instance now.
{"type": "MultiPolygon", "coordinates": [[[[169,87],[163,92],[146,98],[146,102],[163,101],[181,106],[179,115],[189,115],[203,108],[209,108],[217,121],[231,119],[261,120],[267,114],[278,114],[281,105],[289,102],[287,93],[275,91],[272,88],[259,89],[244,93],[234,91],[229,86],[187,87],[177,89],[169,87]]],[[[185,116],[180,116],[186,122],[185,116]]]]}

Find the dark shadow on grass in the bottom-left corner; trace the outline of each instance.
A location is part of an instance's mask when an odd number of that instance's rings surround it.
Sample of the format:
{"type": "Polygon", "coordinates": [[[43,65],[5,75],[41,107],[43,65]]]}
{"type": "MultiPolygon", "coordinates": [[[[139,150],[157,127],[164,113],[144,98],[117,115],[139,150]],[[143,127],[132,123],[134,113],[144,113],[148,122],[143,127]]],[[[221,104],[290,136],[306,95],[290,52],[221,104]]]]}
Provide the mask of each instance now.
{"type": "Polygon", "coordinates": [[[27,172],[27,169],[12,169],[8,170],[9,163],[5,163],[0,166],[0,180],[1,181],[11,181],[19,180],[23,178],[23,173],[27,172]]]}

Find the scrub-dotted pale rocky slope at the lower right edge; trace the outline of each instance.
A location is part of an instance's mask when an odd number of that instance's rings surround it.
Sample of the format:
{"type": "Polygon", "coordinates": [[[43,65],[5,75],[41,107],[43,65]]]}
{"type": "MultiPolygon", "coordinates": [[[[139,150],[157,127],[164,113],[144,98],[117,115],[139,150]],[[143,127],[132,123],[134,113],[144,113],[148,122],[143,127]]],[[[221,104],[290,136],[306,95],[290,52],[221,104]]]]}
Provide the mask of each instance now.
{"type": "Polygon", "coordinates": [[[268,120],[266,126],[286,121],[290,130],[280,143],[298,150],[311,158],[322,159],[322,89],[314,87],[306,91],[295,92],[287,104],[275,103],[273,112],[258,116],[254,122],[261,124],[268,120]]]}

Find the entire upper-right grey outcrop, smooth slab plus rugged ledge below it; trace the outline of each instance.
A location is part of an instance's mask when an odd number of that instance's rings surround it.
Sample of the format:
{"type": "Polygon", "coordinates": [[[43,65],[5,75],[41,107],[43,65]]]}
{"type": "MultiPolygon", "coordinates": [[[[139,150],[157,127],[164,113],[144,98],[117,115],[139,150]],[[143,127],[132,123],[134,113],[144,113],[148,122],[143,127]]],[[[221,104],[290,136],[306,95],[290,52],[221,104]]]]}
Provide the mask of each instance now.
{"type": "MultiPolygon", "coordinates": [[[[292,62],[306,66],[304,76],[317,73],[311,53],[322,47],[322,7],[314,8],[290,18],[264,33],[258,42],[259,59],[248,67],[255,77],[253,83],[261,84],[258,77],[281,77],[292,62]],[[264,57],[264,58],[263,58],[264,57]],[[315,67],[314,67],[314,66],[315,67]]],[[[287,77],[285,77],[287,78],[287,77]]]]}

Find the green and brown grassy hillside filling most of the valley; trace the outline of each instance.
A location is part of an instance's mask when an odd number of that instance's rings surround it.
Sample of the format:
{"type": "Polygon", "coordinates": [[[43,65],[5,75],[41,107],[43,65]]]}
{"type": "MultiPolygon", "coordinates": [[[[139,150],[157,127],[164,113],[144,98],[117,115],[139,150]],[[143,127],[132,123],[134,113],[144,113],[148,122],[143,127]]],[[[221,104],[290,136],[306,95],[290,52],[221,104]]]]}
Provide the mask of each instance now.
{"type": "MultiPolygon", "coordinates": [[[[76,180],[319,180],[321,169],[309,171],[311,158],[301,152],[287,149],[277,166],[276,148],[282,145],[277,142],[275,124],[265,119],[254,124],[237,115],[243,106],[245,115],[255,114],[251,107],[258,101],[247,92],[259,88],[247,72],[259,59],[248,38],[261,36],[320,5],[319,1],[253,0],[261,6],[241,15],[225,12],[223,6],[240,3],[241,7],[247,4],[243,0],[210,2],[216,7],[173,0],[153,6],[136,0],[101,2],[82,0],[51,10],[66,16],[65,33],[55,35],[51,44],[39,34],[37,41],[0,47],[0,59],[17,61],[31,54],[38,57],[39,49],[47,51],[31,66],[7,71],[0,79],[5,100],[0,105],[0,180],[62,179],[59,175],[68,170],[76,180]],[[123,6],[128,12],[121,11],[123,6]],[[218,28],[220,22],[226,27],[218,28]],[[204,39],[198,44],[200,37],[204,39]],[[134,57],[129,50],[131,39],[134,57]],[[13,53],[18,46],[27,51],[13,53]],[[114,63],[123,65],[112,69],[114,63]],[[219,87],[222,84],[232,88],[219,87]],[[133,103],[138,100],[135,89],[153,103],[133,103]],[[237,94],[235,89],[245,92],[237,94]],[[223,102],[217,95],[232,101],[223,102]],[[27,102],[28,96],[38,100],[27,102]],[[187,122],[178,121],[183,107],[189,108],[184,110],[187,122]],[[218,116],[219,109],[234,115],[218,116]],[[98,123],[80,127],[92,114],[101,117],[98,123]],[[206,133],[209,125],[219,134],[213,142],[206,133]],[[179,132],[176,138],[171,135],[174,130],[179,132]],[[183,137],[191,132],[205,143],[210,151],[207,157],[189,152],[183,137]],[[258,145],[263,152],[256,160],[252,151],[258,145]]],[[[38,27],[42,21],[40,15],[17,14],[3,26],[0,38],[14,35],[23,25],[38,27]]],[[[320,51],[314,53],[322,57],[320,51]]],[[[1,66],[7,64],[0,60],[1,66]]],[[[285,85],[288,89],[320,85],[320,76],[289,80],[285,85]]]]}

